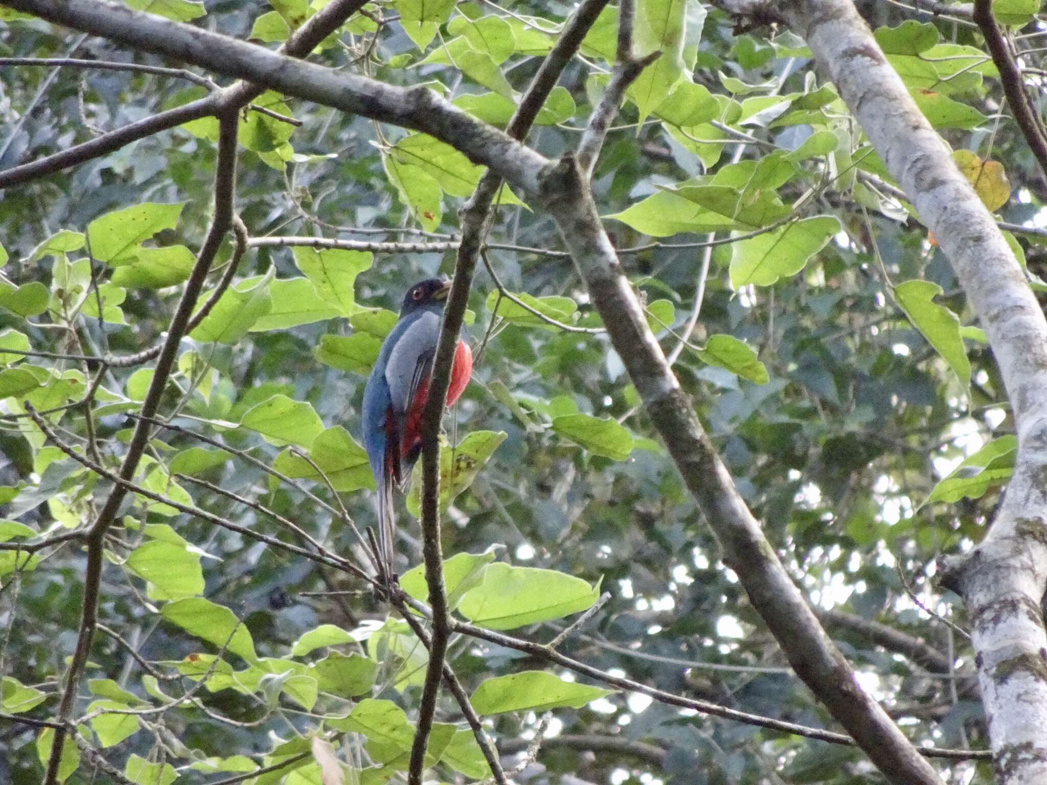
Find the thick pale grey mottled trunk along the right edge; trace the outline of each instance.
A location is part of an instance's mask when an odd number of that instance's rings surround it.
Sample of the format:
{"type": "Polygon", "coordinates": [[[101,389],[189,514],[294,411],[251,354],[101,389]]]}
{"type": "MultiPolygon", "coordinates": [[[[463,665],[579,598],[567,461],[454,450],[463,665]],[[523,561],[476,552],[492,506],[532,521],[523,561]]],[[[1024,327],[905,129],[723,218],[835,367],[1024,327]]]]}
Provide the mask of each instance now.
{"type": "Polygon", "coordinates": [[[742,13],[774,7],[806,40],[938,239],[988,337],[1017,424],[1018,455],[992,528],[946,565],[943,583],[963,597],[972,620],[998,768],[1012,782],[1047,778],[1047,630],[1041,610],[1047,588],[1047,319],[993,217],[852,3],[720,4],[742,13]]]}

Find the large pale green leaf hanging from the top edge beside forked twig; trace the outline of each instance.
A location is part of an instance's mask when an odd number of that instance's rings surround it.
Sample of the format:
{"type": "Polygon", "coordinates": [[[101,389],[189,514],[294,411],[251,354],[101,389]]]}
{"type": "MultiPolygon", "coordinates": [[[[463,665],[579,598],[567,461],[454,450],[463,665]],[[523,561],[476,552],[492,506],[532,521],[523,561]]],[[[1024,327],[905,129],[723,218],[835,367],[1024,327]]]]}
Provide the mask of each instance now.
{"type": "Polygon", "coordinates": [[[640,121],[665,100],[684,75],[684,20],[686,0],[640,0],[637,4],[636,47],[641,57],[662,54],[629,87],[640,121]]]}

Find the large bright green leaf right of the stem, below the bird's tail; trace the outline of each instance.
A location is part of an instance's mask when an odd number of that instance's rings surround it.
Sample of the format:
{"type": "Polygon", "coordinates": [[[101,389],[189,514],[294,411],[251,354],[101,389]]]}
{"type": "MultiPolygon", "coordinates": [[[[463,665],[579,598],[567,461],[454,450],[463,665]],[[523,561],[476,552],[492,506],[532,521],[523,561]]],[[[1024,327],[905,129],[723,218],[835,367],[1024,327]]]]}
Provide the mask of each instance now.
{"type": "Polygon", "coordinates": [[[462,598],[459,611],[481,627],[511,630],[578,613],[600,597],[600,586],[581,578],[536,567],[496,562],[484,582],[462,598]]]}

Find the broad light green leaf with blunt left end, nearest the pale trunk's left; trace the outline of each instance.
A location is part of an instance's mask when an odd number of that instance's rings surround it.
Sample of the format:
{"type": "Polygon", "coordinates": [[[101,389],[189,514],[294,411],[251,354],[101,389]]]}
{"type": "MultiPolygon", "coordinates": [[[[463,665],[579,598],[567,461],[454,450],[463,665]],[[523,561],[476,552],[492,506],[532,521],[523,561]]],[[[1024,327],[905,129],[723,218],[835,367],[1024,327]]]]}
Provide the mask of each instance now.
{"type": "Polygon", "coordinates": [[[731,286],[770,286],[795,275],[840,230],[836,218],[817,216],[735,243],[731,246],[731,286]]]}

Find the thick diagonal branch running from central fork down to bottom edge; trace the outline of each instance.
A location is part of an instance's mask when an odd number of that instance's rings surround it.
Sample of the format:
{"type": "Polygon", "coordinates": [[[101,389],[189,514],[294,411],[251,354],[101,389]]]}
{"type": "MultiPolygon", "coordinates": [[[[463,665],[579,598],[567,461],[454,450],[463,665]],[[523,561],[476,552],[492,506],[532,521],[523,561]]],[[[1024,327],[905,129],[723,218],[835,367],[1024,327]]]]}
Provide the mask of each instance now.
{"type": "Polygon", "coordinates": [[[895,782],[937,785],[934,768],[859,686],[742,501],[647,326],[585,182],[577,162],[565,158],[544,174],[542,206],[555,218],[611,343],[723,547],[725,563],[797,674],[873,763],[895,782]]]}

